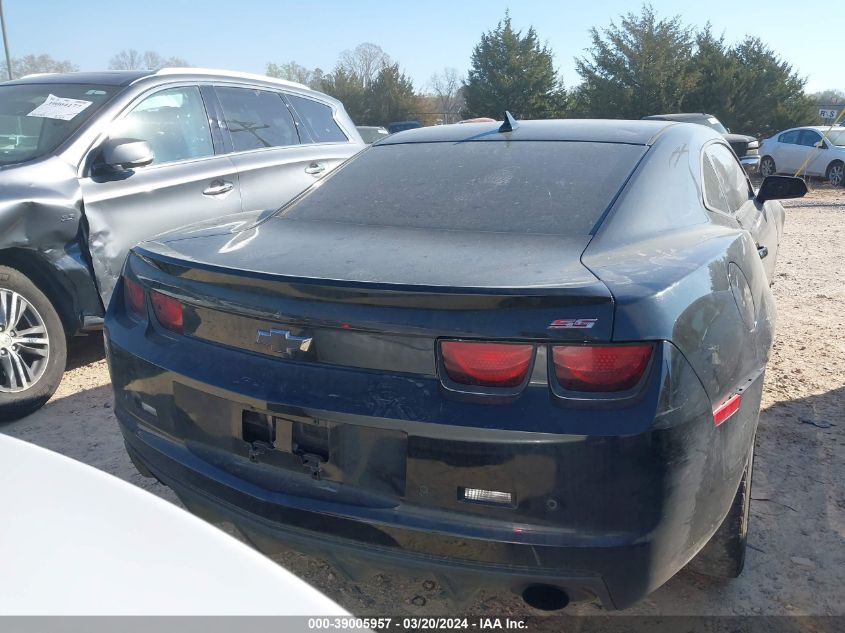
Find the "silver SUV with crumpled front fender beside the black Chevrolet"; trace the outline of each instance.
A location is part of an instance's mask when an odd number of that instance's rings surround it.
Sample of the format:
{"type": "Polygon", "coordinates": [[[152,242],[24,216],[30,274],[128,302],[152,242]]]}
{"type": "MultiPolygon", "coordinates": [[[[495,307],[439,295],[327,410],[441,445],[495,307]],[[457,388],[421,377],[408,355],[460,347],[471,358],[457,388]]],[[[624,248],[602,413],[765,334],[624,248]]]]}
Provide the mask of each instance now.
{"type": "Polygon", "coordinates": [[[196,68],[0,84],[0,420],[42,406],[137,242],[276,209],[364,147],[306,86],[196,68]]]}

